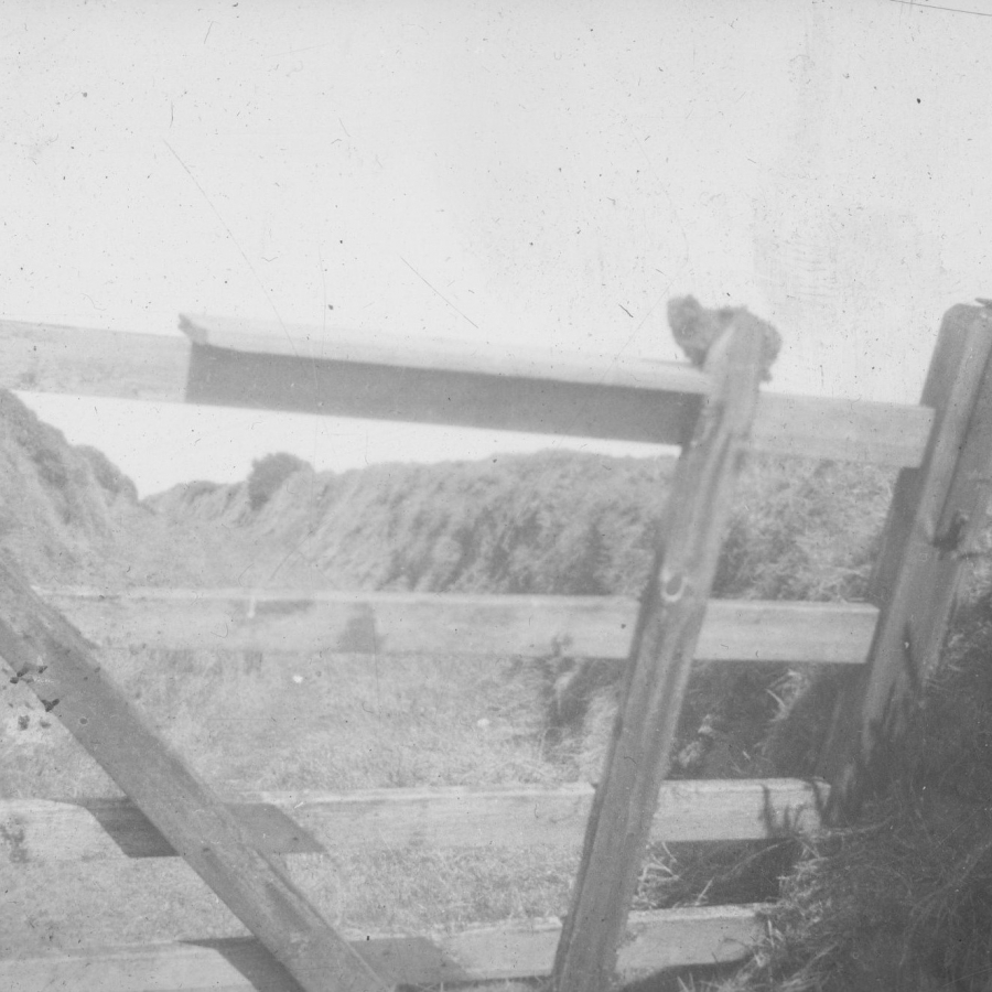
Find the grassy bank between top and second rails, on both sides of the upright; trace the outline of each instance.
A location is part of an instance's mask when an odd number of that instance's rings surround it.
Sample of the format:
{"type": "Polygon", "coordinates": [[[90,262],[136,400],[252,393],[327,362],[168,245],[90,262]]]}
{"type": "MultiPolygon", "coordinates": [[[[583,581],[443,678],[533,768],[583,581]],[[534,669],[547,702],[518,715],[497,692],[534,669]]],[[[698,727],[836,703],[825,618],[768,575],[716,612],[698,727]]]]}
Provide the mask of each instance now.
{"type": "MultiPolygon", "coordinates": [[[[279,569],[335,587],[639,594],[669,459],[543,453],[335,474],[287,463],[266,486],[192,483],[148,500],[175,524],[277,541],[279,569]],[[259,495],[263,493],[261,498],[259,495]]],[[[858,599],[892,477],[866,466],[755,459],[738,488],[714,593],[858,599]]]]}

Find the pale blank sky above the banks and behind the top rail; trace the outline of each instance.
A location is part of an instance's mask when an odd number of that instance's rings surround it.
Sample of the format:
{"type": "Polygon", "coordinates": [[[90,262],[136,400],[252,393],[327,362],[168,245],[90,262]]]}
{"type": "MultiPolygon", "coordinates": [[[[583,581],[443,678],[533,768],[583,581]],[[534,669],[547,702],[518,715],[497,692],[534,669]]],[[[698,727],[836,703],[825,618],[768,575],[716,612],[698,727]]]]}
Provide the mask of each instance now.
{"type": "MultiPolygon", "coordinates": [[[[0,315],[675,358],[691,292],[779,327],[776,388],[915,401],[992,296],[992,0],[955,6],[8,0],[0,315]]],[[[145,493],[524,446],[25,398],[145,493]]]]}

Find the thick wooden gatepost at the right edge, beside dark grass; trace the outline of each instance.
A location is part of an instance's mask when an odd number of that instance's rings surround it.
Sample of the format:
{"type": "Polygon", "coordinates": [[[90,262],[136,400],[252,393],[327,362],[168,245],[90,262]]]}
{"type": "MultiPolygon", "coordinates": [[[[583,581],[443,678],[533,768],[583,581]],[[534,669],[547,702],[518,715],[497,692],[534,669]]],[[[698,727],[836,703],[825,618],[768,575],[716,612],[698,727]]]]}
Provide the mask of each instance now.
{"type": "Polygon", "coordinates": [[[896,740],[906,708],[932,673],[967,554],[992,496],[992,312],[948,311],[924,386],[936,410],[919,468],[899,473],[870,584],[881,607],[870,662],[834,711],[820,772],[834,786],[830,816],[856,815],[885,783],[880,744],[896,740]]]}

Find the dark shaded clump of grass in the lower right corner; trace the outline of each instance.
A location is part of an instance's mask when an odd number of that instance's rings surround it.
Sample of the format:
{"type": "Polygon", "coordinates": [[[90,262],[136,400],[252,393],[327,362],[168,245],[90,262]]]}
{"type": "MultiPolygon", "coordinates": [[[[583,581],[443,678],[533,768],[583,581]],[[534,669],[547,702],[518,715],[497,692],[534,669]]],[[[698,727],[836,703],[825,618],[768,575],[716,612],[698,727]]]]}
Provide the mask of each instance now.
{"type": "Polygon", "coordinates": [[[856,827],[815,840],[721,992],[978,992],[992,979],[992,610],[979,600],[856,827]]]}

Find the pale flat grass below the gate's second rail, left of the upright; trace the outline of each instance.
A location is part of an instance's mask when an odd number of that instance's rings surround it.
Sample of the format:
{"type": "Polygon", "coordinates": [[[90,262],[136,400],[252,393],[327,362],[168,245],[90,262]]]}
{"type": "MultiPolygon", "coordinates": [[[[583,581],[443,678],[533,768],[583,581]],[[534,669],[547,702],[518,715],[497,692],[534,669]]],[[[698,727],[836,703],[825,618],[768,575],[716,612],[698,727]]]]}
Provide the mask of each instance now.
{"type": "MultiPolygon", "coordinates": [[[[568,777],[544,747],[538,687],[519,670],[510,677],[511,659],[118,651],[104,660],[162,735],[223,790],[568,777]]],[[[19,718],[29,719],[3,737],[3,795],[116,794],[57,722],[19,702],[19,718]]],[[[409,930],[563,913],[576,854],[419,848],[289,863],[339,926],[409,930]]],[[[4,873],[3,888],[2,955],[244,932],[177,859],[22,866],[4,873]]]]}

